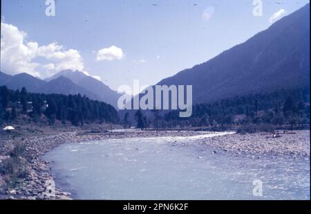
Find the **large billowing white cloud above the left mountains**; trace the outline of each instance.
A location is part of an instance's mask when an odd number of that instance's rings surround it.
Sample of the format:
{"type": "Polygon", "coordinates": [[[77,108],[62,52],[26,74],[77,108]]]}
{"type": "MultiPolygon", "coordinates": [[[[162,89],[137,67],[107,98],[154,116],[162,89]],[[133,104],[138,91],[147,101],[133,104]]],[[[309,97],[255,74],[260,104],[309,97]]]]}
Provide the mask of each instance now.
{"type": "Polygon", "coordinates": [[[28,42],[27,34],[12,24],[1,22],[1,71],[17,74],[26,72],[41,78],[64,69],[84,71],[83,58],[79,51],[66,49],[53,42],[39,46],[28,42]],[[44,57],[48,63],[33,62],[36,57],[44,57]]]}

